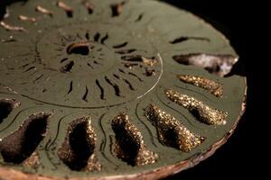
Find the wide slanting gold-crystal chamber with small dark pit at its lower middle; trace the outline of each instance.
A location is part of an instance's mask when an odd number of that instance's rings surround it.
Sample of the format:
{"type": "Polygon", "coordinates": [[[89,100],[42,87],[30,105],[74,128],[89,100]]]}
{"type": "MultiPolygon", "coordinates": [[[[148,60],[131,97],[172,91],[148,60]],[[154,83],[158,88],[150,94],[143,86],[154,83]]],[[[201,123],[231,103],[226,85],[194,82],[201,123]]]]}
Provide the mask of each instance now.
{"type": "Polygon", "coordinates": [[[189,152],[205,139],[188,130],[182,122],[177,121],[171,114],[163,112],[156,105],[150,104],[145,109],[145,115],[156,127],[158,138],[165,146],[189,152]]]}

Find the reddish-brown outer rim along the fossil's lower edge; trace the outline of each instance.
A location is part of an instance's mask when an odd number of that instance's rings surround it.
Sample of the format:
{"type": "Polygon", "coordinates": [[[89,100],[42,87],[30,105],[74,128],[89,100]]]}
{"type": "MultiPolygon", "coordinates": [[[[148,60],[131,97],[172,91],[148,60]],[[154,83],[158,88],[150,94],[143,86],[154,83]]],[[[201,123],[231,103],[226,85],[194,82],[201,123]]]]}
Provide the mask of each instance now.
{"type": "MultiPolygon", "coordinates": [[[[201,153],[196,157],[191,157],[188,160],[181,161],[175,165],[170,166],[162,166],[156,168],[152,171],[145,171],[139,174],[133,175],[110,175],[110,176],[101,176],[101,177],[72,177],[68,178],[70,180],[118,180],[118,179],[126,179],[126,180],[134,180],[134,179],[158,179],[164,178],[169,175],[174,175],[182,170],[191,168],[193,166],[198,165],[201,161],[211,157],[218,148],[224,145],[230,136],[233,134],[234,130],[237,128],[238,121],[240,121],[242,115],[246,111],[246,101],[247,101],[247,78],[244,78],[244,82],[246,88],[244,89],[244,96],[243,96],[243,103],[241,103],[241,110],[238,114],[237,120],[234,122],[233,126],[229,130],[229,132],[219,141],[214,143],[206,152],[201,153]]],[[[33,175],[33,174],[26,174],[18,170],[14,170],[8,167],[0,167],[0,177],[9,180],[64,180],[67,178],[63,177],[56,177],[56,176],[42,176],[42,175],[33,175]]]]}

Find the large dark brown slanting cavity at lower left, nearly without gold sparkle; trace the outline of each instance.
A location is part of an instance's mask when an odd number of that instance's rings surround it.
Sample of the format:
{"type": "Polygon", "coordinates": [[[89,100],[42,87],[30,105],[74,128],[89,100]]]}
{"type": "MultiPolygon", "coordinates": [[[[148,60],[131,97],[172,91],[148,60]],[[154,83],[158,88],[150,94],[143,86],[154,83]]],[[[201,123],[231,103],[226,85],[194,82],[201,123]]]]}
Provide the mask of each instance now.
{"type": "Polygon", "coordinates": [[[5,162],[20,164],[33,154],[47,130],[50,113],[31,115],[13,134],[0,141],[0,151],[5,162]]]}

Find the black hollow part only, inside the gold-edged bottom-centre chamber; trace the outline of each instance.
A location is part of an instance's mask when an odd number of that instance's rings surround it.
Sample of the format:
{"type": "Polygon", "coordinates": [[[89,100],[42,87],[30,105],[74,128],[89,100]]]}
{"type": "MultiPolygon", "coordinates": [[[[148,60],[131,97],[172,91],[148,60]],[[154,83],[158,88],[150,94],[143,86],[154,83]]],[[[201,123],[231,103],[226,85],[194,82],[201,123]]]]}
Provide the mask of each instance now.
{"type": "Polygon", "coordinates": [[[135,166],[135,157],[138,154],[140,148],[132,133],[126,130],[125,126],[112,122],[112,129],[116,134],[117,145],[121,152],[118,153],[123,161],[128,165],[135,166]]]}

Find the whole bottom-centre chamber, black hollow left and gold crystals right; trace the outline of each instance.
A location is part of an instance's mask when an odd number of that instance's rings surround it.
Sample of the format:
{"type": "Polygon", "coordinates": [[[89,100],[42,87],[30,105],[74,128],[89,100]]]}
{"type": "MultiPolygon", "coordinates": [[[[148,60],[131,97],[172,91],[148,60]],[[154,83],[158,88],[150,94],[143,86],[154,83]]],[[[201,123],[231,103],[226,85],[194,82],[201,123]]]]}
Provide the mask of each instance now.
{"type": "Polygon", "coordinates": [[[141,132],[129,121],[128,115],[120,113],[112,120],[112,128],[116,133],[115,153],[118,158],[132,166],[144,166],[156,162],[158,155],[145,147],[141,132]],[[126,147],[126,143],[131,147],[126,147]],[[126,148],[126,149],[124,149],[126,148]],[[129,149],[129,151],[127,150],[129,149]],[[129,162],[132,161],[132,162],[129,162]]]}

